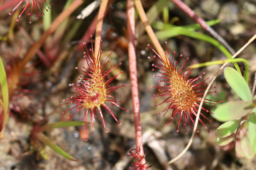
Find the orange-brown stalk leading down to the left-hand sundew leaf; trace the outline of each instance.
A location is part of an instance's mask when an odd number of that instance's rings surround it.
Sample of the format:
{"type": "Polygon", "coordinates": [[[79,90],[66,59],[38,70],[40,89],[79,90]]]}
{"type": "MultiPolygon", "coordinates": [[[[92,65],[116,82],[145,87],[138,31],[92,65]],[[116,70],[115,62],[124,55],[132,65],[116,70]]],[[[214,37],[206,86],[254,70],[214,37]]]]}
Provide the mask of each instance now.
{"type": "MultiPolygon", "coordinates": [[[[108,5],[108,0],[102,0],[100,4],[100,10],[98,13],[98,20],[96,26],[96,33],[95,33],[95,45],[94,45],[94,56],[98,56],[98,51],[100,50],[100,40],[101,40],[101,32],[102,32],[102,23],[104,16],[106,14],[106,8],[108,5]]],[[[95,59],[97,61],[97,59],[95,59]]],[[[98,63],[100,64],[100,63],[98,63]]]]}

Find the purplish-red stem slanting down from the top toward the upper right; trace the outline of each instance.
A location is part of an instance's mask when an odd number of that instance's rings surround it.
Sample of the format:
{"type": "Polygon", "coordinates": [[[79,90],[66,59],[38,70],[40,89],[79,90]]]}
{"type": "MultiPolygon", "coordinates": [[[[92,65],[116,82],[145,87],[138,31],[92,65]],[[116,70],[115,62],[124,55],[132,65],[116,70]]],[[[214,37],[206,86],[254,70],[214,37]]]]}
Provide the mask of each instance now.
{"type": "Polygon", "coordinates": [[[183,10],[190,18],[192,18],[194,21],[196,21],[198,24],[201,25],[203,29],[208,31],[212,36],[217,39],[228,51],[234,55],[235,51],[228,45],[228,43],[216,32],[212,27],[210,27],[202,18],[197,16],[193,10],[191,10],[184,2],[181,0],[171,0],[176,6],[178,6],[181,10],[183,10]]]}

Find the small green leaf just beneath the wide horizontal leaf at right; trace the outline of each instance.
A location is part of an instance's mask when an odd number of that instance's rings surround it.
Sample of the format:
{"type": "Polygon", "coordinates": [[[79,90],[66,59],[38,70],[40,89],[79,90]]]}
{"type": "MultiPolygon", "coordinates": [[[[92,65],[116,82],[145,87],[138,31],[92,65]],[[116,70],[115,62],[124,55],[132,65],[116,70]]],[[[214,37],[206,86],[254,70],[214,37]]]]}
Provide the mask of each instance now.
{"type": "MultiPolygon", "coordinates": [[[[244,121],[245,120],[243,120],[242,123],[244,121]]],[[[240,123],[240,119],[237,119],[233,121],[228,121],[220,125],[220,127],[218,127],[215,131],[215,136],[219,138],[228,137],[237,129],[239,123],[240,123]]]]}

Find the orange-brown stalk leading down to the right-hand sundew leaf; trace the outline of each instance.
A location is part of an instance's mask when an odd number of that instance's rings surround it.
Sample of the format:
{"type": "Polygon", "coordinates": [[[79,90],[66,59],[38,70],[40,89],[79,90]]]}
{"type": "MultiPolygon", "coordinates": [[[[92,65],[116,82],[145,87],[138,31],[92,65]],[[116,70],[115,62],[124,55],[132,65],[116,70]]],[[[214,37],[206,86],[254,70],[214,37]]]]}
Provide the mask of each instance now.
{"type": "Polygon", "coordinates": [[[147,32],[149,38],[151,39],[153,45],[155,46],[156,51],[162,57],[162,59],[164,59],[164,61],[167,62],[166,58],[164,57],[165,56],[164,50],[161,47],[158,39],[156,38],[156,35],[155,35],[152,27],[150,26],[150,23],[148,22],[148,18],[146,16],[146,13],[143,9],[143,6],[142,6],[140,0],[134,0],[134,4],[137,9],[138,15],[140,16],[140,20],[142,21],[142,23],[146,29],[146,32],[147,32]]]}

